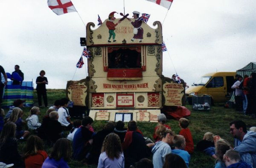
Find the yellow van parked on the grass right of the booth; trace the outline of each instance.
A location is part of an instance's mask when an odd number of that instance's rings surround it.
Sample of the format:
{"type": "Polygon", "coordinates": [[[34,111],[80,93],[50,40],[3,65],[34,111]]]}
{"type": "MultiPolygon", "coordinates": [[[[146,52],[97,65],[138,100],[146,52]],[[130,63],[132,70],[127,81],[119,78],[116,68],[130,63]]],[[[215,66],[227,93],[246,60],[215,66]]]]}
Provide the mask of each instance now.
{"type": "Polygon", "coordinates": [[[186,98],[192,104],[193,95],[209,95],[212,103],[225,103],[230,100],[236,72],[207,73],[186,90],[186,98]]]}

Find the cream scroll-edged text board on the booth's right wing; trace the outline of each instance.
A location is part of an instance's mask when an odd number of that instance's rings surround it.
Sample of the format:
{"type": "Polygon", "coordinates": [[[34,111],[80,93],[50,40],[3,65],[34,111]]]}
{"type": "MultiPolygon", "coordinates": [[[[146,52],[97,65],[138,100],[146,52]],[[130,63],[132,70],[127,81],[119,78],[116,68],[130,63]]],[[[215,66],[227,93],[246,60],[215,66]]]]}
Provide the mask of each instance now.
{"type": "Polygon", "coordinates": [[[167,82],[163,84],[163,95],[165,97],[165,106],[182,106],[182,97],[184,93],[182,84],[177,84],[174,82],[167,82]]]}

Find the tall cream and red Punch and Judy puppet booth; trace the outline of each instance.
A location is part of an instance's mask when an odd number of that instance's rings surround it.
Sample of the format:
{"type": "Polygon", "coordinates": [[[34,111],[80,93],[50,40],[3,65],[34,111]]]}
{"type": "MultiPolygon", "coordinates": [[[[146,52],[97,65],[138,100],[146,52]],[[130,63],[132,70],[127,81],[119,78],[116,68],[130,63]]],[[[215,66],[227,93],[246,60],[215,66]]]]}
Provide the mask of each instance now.
{"type": "Polygon", "coordinates": [[[68,81],[67,97],[93,120],[157,122],[163,106],[185,104],[184,83],[162,75],[162,25],[156,21],[151,28],[138,11],[134,18],[114,15],[96,29],[87,24],[88,76],[68,81]]]}

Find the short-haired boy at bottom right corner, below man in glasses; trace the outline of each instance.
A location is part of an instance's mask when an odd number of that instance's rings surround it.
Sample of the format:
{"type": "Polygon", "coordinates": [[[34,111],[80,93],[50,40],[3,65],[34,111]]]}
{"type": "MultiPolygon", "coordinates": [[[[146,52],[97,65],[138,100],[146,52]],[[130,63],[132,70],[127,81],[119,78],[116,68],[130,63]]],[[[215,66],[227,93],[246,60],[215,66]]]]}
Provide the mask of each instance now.
{"type": "Polygon", "coordinates": [[[233,149],[226,151],[223,156],[223,160],[227,168],[251,168],[247,163],[240,162],[241,159],[239,152],[233,149]]]}

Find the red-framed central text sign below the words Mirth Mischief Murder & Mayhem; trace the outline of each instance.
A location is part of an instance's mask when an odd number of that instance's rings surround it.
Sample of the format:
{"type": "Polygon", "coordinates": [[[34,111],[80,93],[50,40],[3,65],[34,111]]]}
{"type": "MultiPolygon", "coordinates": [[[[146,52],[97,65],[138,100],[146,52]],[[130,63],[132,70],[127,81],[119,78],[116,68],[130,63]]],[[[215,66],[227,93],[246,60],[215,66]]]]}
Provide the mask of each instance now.
{"type": "Polygon", "coordinates": [[[134,94],[116,94],[117,107],[134,107],[134,94]]]}

